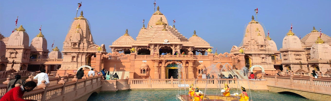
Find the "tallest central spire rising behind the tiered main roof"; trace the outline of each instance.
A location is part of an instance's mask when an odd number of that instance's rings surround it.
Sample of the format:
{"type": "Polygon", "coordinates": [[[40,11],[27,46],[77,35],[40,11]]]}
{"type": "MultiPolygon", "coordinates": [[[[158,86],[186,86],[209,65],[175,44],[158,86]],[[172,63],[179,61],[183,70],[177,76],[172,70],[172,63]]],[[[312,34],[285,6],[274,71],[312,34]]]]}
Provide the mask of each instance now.
{"type": "Polygon", "coordinates": [[[151,26],[155,26],[155,23],[158,22],[158,20],[160,19],[160,17],[163,18],[163,22],[166,24],[166,25],[169,25],[168,24],[168,21],[166,19],[166,16],[160,12],[160,7],[158,6],[157,7],[157,11],[155,13],[153,13],[152,17],[149,19],[148,21],[148,24],[147,24],[147,29],[151,28],[151,26]]]}

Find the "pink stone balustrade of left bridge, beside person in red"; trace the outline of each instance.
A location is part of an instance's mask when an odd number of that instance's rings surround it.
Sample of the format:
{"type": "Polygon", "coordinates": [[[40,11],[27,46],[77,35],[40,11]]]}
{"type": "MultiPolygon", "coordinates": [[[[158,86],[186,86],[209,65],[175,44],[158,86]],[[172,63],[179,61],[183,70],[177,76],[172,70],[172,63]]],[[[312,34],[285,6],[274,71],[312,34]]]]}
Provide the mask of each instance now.
{"type": "MultiPolygon", "coordinates": [[[[56,78],[56,80],[59,78],[56,78]]],[[[51,83],[49,86],[45,84],[46,81],[42,81],[42,84],[32,91],[25,92],[23,98],[37,101],[73,101],[78,98],[85,98],[87,100],[89,95],[87,97],[84,97],[84,95],[101,88],[102,78],[102,75],[89,78],[84,75],[80,80],[78,80],[76,76],[71,80],[62,77],[56,84],[51,83]]],[[[2,90],[3,86],[4,85],[0,85],[0,98],[4,95],[4,91],[2,90]]]]}

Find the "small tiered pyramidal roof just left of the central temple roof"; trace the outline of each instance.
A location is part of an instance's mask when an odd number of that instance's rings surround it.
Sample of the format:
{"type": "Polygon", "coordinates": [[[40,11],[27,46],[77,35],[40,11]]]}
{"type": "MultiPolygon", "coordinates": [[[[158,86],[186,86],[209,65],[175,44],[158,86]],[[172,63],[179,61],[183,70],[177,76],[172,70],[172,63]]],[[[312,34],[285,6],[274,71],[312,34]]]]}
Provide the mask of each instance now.
{"type": "Polygon", "coordinates": [[[110,47],[132,47],[132,44],[134,44],[134,42],[135,40],[131,36],[129,36],[126,29],[125,34],[115,40],[110,47]]]}

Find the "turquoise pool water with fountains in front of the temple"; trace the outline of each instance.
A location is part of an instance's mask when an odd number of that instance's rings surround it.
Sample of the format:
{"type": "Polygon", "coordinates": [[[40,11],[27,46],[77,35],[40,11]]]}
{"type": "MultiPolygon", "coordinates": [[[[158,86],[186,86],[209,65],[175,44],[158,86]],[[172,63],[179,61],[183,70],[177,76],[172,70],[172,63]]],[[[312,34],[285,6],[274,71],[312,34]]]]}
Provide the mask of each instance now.
{"type": "MultiPolygon", "coordinates": [[[[205,91],[201,89],[201,91],[205,91]]],[[[238,89],[231,89],[230,93],[240,93],[238,89]]],[[[179,93],[185,94],[184,90],[125,90],[117,92],[103,92],[99,94],[92,94],[87,101],[179,101],[176,95],[179,93]]],[[[186,92],[188,93],[188,92],[186,92]]],[[[280,94],[268,91],[250,91],[247,90],[250,100],[253,101],[316,101],[306,99],[302,96],[291,94],[280,94]]],[[[206,94],[220,94],[219,89],[207,89],[206,94]]]]}

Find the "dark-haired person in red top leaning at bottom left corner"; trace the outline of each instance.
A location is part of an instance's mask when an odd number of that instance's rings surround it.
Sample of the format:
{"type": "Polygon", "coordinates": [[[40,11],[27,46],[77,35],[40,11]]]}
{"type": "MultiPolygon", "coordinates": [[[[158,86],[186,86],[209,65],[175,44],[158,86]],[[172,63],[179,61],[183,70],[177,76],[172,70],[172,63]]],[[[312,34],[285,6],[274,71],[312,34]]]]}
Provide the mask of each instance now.
{"type": "Polygon", "coordinates": [[[25,100],[22,99],[24,92],[32,91],[37,84],[33,81],[29,81],[20,87],[14,87],[2,96],[0,101],[37,101],[37,100],[25,100]]]}

